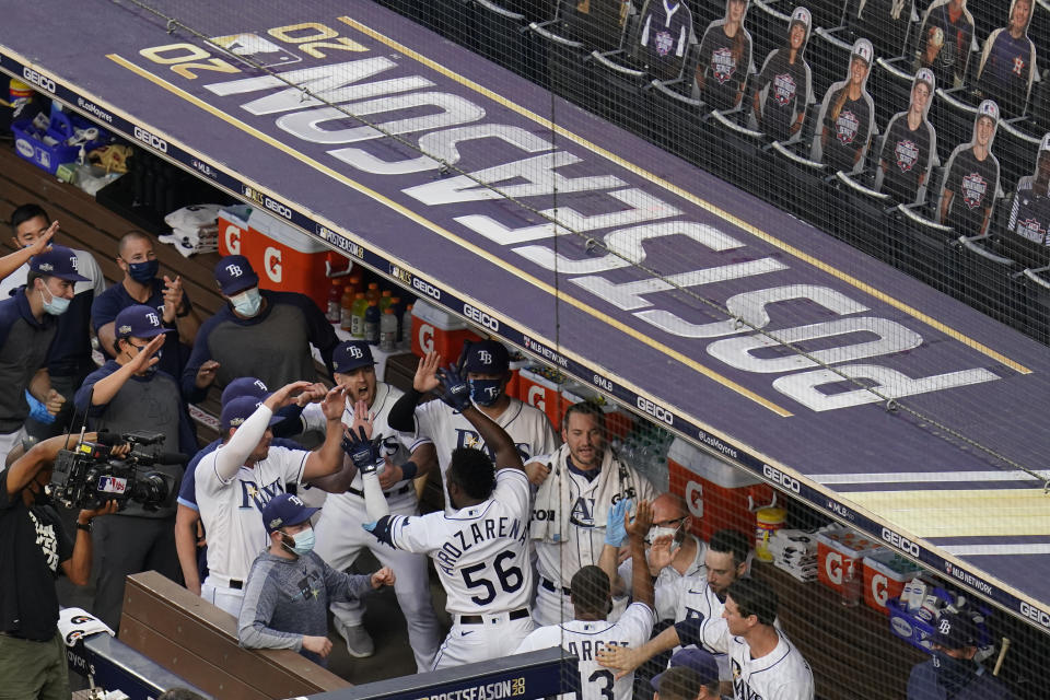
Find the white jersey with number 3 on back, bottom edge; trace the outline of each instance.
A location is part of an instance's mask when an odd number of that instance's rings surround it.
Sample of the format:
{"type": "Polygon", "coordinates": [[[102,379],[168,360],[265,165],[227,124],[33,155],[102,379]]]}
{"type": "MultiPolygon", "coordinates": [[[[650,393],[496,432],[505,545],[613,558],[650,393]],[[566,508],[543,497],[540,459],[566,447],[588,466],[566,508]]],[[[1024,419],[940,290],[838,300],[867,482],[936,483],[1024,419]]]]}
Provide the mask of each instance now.
{"type": "Polygon", "coordinates": [[[616,622],[608,620],[571,620],[561,625],[541,627],[530,633],[517,648],[517,653],[561,646],[580,658],[580,688],[582,696],[567,692],[559,698],[569,700],[631,700],[634,674],[619,680],[610,668],[598,665],[595,655],[610,646],[638,649],[653,633],[656,616],[644,603],[632,603],[616,622]]]}

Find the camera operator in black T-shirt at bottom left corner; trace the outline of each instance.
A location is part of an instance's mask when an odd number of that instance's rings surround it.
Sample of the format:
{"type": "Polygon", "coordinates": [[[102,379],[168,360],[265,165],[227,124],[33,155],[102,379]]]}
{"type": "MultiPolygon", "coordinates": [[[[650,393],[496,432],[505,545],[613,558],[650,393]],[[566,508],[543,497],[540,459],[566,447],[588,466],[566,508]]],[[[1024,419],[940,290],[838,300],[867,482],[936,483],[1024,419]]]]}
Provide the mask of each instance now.
{"type": "Polygon", "coordinates": [[[55,457],[67,441],[72,446],[77,436],[45,440],[0,472],[0,688],[4,697],[69,698],[55,579],[61,572],[77,585],[88,583],[92,521],[117,510],[116,502],[109,501],[100,509],[80,511],[77,541],[70,542],[44,493],[55,457]]]}

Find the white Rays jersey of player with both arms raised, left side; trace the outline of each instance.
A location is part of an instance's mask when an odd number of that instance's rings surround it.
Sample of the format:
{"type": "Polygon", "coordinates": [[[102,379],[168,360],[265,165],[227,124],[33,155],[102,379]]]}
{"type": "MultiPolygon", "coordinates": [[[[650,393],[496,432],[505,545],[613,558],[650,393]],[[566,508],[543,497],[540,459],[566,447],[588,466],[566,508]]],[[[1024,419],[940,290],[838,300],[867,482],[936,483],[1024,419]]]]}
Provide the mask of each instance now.
{"type": "Polygon", "coordinates": [[[252,468],[241,467],[224,481],[215,459],[224,445],[200,460],[196,471],[197,505],[208,533],[208,570],[217,576],[246,581],[256,556],[269,544],[262,526],[262,509],[284,485],[299,483],[310,453],[270,447],[266,459],[252,468]]]}

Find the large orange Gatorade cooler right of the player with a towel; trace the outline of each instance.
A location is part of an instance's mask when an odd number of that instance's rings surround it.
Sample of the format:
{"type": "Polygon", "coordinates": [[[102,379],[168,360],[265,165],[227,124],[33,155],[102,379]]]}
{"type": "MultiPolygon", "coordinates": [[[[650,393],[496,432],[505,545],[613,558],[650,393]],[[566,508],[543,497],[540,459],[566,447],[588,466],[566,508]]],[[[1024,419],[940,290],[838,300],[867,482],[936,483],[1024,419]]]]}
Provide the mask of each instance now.
{"type": "Polygon", "coordinates": [[[670,443],[667,471],[692,514],[692,533],[705,541],[720,529],[754,532],[755,511],[775,503],[771,486],[681,438],[670,443]]]}

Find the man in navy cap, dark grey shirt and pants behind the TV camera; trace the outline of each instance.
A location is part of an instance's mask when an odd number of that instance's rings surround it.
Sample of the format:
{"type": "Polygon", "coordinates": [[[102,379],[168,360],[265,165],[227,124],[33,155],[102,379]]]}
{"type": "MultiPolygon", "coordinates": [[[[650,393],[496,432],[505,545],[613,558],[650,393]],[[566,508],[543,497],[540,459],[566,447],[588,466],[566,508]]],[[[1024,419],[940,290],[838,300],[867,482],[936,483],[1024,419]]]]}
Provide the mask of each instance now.
{"type": "MultiPolygon", "coordinates": [[[[166,334],[160,312],[128,306],[114,322],[115,360],[92,372],[77,392],[78,411],[88,411],[93,430],[113,433],[159,433],[161,453],[191,454],[196,439],[178,383],[156,369],[166,334]]],[[[174,345],[174,343],[173,343],[174,345]]],[[[173,348],[177,352],[177,348],[173,348]]],[[[183,462],[185,463],[185,460],[183,462]]],[[[98,529],[98,583],[94,614],[114,630],[120,623],[124,582],[128,574],[155,570],[179,581],[175,549],[175,495],[183,476],[174,455],[161,454],[150,471],[164,475],[168,498],[161,503],[128,502],[98,529]],[[164,464],[171,462],[171,464],[164,464]]]]}

